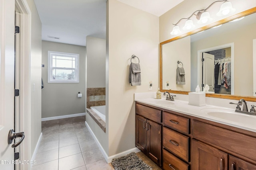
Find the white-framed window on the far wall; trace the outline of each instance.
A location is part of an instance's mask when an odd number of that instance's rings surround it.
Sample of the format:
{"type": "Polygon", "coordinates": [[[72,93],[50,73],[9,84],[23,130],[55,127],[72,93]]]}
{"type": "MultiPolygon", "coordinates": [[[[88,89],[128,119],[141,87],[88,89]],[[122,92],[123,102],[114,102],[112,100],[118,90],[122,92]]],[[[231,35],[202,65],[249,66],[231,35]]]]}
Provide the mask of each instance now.
{"type": "Polygon", "coordinates": [[[79,83],[79,54],[48,51],[48,83],[79,83]]]}

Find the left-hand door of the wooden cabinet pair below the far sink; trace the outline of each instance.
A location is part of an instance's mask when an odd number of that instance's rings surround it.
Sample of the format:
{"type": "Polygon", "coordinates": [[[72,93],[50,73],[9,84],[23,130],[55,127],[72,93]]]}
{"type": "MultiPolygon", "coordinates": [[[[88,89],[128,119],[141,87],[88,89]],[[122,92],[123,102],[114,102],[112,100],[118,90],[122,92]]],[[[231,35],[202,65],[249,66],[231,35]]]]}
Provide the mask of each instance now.
{"type": "Polygon", "coordinates": [[[136,115],[136,125],[135,125],[135,145],[144,154],[146,154],[146,118],[136,115]]]}

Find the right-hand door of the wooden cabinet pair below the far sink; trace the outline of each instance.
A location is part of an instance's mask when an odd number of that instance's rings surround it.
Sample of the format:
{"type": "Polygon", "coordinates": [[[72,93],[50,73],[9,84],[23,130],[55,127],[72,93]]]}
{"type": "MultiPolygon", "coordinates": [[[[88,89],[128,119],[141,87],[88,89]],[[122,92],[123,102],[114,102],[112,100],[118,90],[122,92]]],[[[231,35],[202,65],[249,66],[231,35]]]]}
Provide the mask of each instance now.
{"type": "Polygon", "coordinates": [[[158,166],[161,166],[161,134],[162,126],[147,120],[147,155],[158,166]]]}

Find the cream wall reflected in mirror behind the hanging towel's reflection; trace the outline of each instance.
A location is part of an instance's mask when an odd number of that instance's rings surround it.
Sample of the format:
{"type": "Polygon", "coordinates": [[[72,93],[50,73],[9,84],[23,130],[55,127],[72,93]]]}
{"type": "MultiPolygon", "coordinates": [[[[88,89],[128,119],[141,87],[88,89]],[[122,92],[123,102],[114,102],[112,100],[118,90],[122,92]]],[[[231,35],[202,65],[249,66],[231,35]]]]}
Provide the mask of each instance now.
{"type": "MultiPolygon", "coordinates": [[[[182,67],[179,64],[179,67],[182,67]]],[[[190,92],[190,37],[179,39],[162,45],[162,67],[163,67],[163,89],[166,89],[166,82],[169,87],[166,90],[181,90],[190,92]],[[185,70],[186,84],[176,84],[177,61],[182,62],[185,70]]]]}

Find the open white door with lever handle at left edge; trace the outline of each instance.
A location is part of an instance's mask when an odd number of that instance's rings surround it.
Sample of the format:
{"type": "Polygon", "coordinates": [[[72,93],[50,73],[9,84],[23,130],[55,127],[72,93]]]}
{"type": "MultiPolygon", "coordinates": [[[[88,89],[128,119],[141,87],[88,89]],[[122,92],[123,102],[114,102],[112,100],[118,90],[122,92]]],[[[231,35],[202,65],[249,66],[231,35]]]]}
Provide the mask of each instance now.
{"type": "Polygon", "coordinates": [[[8,133],[14,129],[14,0],[0,1],[0,169],[13,170],[14,149],[8,133]]]}

